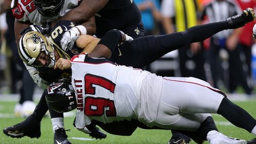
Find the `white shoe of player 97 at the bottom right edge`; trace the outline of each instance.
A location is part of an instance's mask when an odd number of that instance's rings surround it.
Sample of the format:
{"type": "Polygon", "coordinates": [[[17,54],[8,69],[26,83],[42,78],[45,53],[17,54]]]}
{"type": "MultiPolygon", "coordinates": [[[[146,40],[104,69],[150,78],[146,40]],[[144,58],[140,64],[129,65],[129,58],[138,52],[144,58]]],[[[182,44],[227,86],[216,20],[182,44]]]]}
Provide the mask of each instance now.
{"type": "Polygon", "coordinates": [[[246,144],[247,141],[244,139],[237,139],[237,138],[231,138],[231,137],[227,137],[222,133],[218,133],[218,136],[214,139],[209,140],[210,144],[246,144]]]}

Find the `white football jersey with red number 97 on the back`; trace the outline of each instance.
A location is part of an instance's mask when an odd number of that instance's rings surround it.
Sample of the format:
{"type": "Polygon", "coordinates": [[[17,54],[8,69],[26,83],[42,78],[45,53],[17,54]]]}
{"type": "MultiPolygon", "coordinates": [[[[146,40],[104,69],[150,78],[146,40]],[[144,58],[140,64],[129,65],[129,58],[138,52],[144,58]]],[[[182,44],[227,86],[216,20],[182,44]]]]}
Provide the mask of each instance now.
{"type": "Polygon", "coordinates": [[[86,54],[71,60],[72,85],[77,96],[76,127],[138,118],[140,89],[148,71],[117,65],[86,54]]]}

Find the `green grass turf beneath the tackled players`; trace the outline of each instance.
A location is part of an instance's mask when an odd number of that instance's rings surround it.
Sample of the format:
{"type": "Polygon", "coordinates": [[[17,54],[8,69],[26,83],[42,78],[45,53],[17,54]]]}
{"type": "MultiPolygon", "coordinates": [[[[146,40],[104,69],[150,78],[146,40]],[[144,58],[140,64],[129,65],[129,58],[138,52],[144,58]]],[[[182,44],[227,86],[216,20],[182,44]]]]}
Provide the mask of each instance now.
{"type": "MultiPolygon", "coordinates": [[[[256,99],[235,103],[247,110],[253,117],[256,117],[256,99]]],[[[1,101],[0,97],[1,131],[3,131],[3,129],[7,126],[14,125],[24,120],[24,118],[14,116],[14,105],[15,102],[4,102],[1,101]]],[[[167,130],[137,129],[132,136],[116,136],[108,134],[105,139],[96,140],[90,138],[87,134],[77,131],[72,125],[73,119],[73,116],[65,117],[65,127],[66,129],[70,129],[70,131],[67,132],[67,135],[69,136],[69,140],[72,143],[167,143],[171,136],[170,131],[167,130]]],[[[255,137],[253,134],[250,134],[243,129],[233,126],[220,115],[214,114],[214,119],[216,121],[219,131],[225,135],[241,139],[252,139],[255,137]]],[[[29,137],[11,138],[6,136],[3,132],[0,132],[0,143],[53,143],[53,131],[51,125],[52,124],[49,117],[44,117],[42,119],[41,137],[39,137],[38,139],[29,137]]],[[[195,142],[191,141],[190,143],[195,142]]]]}

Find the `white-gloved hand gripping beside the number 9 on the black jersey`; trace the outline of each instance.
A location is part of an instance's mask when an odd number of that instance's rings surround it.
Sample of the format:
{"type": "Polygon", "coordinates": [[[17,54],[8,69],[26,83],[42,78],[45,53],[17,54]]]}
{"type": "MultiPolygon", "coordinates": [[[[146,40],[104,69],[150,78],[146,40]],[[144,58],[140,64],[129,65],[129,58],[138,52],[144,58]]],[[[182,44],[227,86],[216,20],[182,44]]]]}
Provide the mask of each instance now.
{"type": "Polygon", "coordinates": [[[76,27],[65,32],[60,40],[62,50],[65,52],[71,50],[78,36],[80,36],[80,32],[76,27]]]}

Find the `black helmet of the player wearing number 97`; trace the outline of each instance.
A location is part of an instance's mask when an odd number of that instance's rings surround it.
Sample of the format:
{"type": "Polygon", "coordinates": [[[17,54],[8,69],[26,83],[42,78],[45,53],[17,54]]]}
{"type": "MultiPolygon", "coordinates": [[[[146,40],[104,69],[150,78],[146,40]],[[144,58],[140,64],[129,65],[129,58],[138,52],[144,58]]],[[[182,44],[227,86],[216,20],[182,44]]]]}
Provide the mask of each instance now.
{"type": "Polygon", "coordinates": [[[52,83],[46,93],[47,104],[57,112],[68,112],[76,108],[76,95],[67,82],[52,83]]]}

